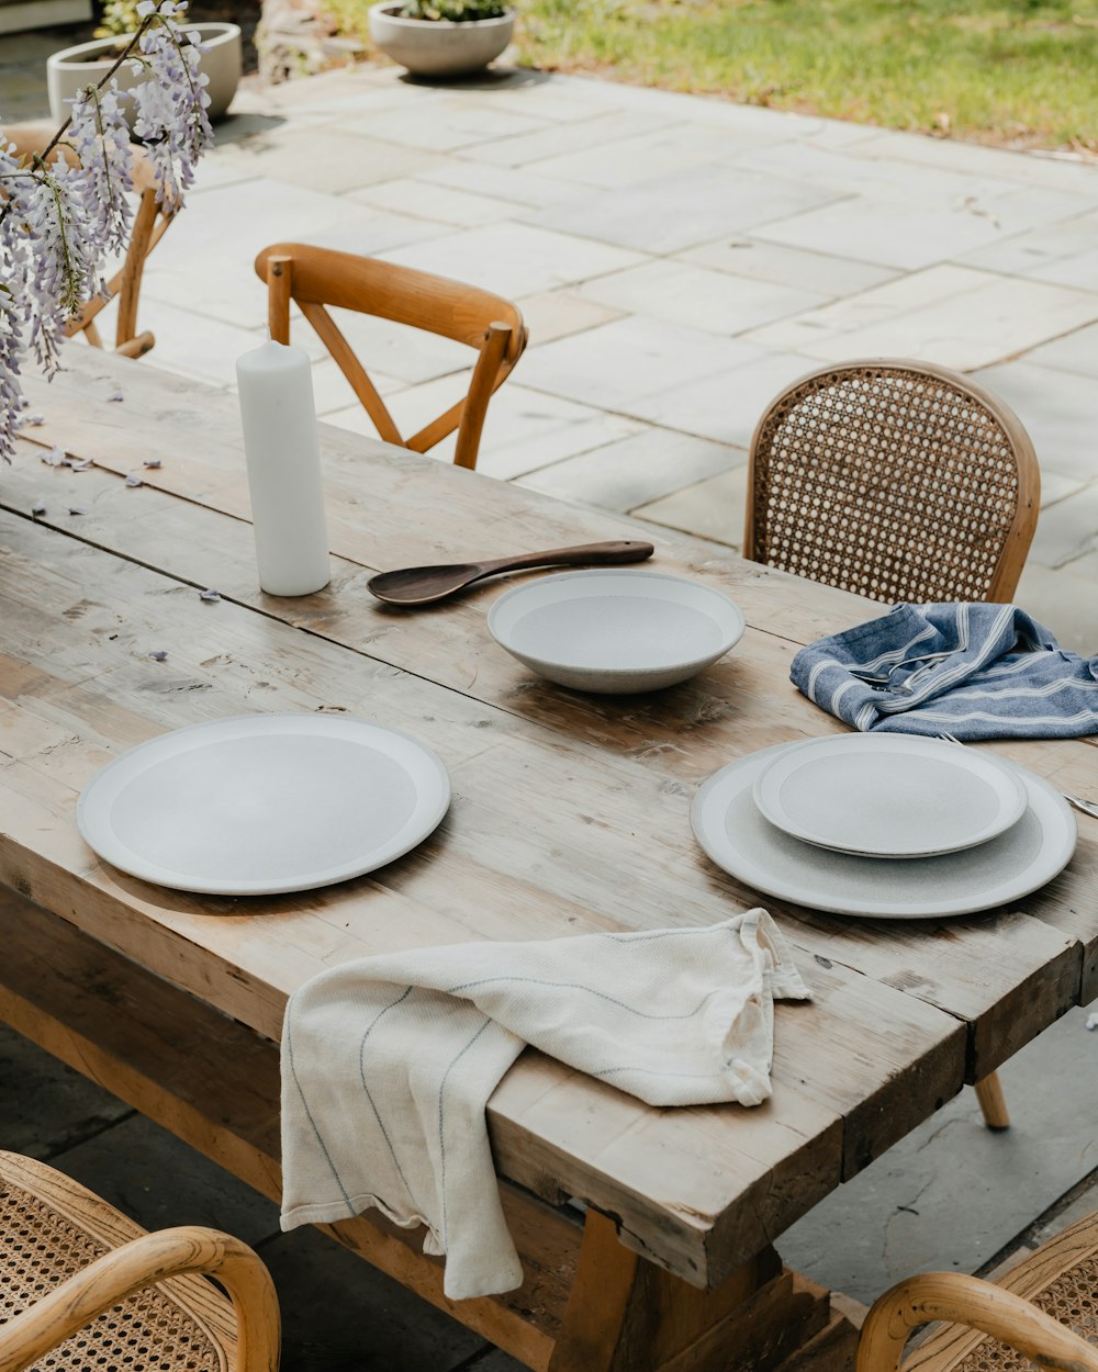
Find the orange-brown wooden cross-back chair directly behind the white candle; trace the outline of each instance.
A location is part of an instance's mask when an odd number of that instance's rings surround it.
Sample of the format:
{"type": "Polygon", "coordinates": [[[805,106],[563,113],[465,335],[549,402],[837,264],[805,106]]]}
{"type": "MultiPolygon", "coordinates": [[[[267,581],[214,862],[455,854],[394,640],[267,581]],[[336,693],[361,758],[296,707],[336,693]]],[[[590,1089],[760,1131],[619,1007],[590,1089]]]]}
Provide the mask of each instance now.
{"type": "Polygon", "coordinates": [[[303,243],[264,248],[255,258],[255,272],[268,284],[272,339],[290,342],[290,302],[296,302],[387,443],[425,453],[457,429],[454,462],[476,465],[489,401],[526,347],[526,327],[517,306],[490,291],[428,272],[303,243]],[[375,314],[475,348],[478,357],[467,394],[419,432],[402,438],[325,306],[375,314]]]}

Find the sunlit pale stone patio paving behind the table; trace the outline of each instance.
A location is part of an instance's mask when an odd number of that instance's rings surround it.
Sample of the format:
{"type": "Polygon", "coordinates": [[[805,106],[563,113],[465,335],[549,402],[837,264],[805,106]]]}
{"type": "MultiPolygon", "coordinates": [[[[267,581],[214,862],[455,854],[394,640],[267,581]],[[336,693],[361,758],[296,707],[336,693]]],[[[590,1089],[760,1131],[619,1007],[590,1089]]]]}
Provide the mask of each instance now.
{"type": "MultiPolygon", "coordinates": [[[[942,362],[1038,450],[1018,602],[1098,650],[1098,166],[538,73],[439,88],[366,67],[235,108],[150,261],[148,365],[232,386],[272,240],[460,277],[516,299],[531,335],[482,471],[736,547],[774,392],[821,361],[942,362]]],[[[398,424],[460,394],[456,346],[347,332],[398,424]]],[[[324,417],[369,432],[295,338],[324,417]]]]}

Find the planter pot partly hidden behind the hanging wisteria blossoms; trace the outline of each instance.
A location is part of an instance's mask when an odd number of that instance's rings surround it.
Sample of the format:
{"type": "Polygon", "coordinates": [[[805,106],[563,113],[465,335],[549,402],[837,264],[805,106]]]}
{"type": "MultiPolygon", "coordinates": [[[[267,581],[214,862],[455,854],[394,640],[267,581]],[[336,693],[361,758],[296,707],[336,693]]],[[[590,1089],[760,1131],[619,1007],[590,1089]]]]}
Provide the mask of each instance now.
{"type": "MultiPolygon", "coordinates": [[[[52,54],[45,62],[45,78],[49,89],[49,114],[60,123],[69,114],[69,102],[78,91],[95,85],[107,67],[115,60],[140,26],[137,15],[139,0],[107,0],[103,7],[103,23],[91,43],[78,43],[52,54]]],[[[243,71],[243,41],[236,23],[184,23],[184,33],[196,33],[203,52],[199,71],[209,78],[206,93],[210,96],[207,115],[221,119],[229,108],[243,71]]],[[[118,73],[121,91],[132,91],[145,73],[122,67],[118,73]]],[[[124,102],[125,107],[126,102],[124,102]]]]}

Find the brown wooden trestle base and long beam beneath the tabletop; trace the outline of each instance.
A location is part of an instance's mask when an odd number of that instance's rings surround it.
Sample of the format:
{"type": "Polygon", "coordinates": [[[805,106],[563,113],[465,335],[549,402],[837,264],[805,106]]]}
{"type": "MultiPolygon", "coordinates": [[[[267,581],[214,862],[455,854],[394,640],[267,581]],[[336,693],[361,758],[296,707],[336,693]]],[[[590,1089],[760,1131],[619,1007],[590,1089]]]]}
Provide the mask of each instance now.
{"type": "MultiPolygon", "coordinates": [[[[70,1066],[272,1199],[280,1194],[277,1047],[15,893],[0,893],[0,1011],[70,1066]]],[[[854,1329],[767,1247],[705,1294],[502,1185],[526,1280],[454,1303],[419,1235],[371,1211],[318,1225],[537,1372],[839,1372],[854,1329]]]]}

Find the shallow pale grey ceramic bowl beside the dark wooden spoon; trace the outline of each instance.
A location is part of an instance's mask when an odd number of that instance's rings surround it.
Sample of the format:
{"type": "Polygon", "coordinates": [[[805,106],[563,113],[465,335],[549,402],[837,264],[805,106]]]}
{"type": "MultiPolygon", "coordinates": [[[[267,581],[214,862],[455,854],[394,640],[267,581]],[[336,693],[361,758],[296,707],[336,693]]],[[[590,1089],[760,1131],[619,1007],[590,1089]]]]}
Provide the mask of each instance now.
{"type": "Polygon", "coordinates": [[[662,572],[600,568],[542,576],[501,595],[489,632],[574,690],[662,690],[715,663],[744,632],[726,595],[662,572]]]}

